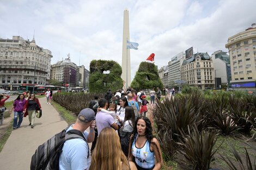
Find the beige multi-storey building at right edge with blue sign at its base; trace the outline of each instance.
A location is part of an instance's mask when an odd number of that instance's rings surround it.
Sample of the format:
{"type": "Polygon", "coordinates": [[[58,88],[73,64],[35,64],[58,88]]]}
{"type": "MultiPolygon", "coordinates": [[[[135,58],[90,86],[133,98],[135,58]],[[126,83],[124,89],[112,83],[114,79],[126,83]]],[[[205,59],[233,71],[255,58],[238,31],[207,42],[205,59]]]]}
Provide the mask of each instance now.
{"type": "Polygon", "coordinates": [[[231,87],[255,91],[256,80],[256,24],[228,38],[231,87]]]}

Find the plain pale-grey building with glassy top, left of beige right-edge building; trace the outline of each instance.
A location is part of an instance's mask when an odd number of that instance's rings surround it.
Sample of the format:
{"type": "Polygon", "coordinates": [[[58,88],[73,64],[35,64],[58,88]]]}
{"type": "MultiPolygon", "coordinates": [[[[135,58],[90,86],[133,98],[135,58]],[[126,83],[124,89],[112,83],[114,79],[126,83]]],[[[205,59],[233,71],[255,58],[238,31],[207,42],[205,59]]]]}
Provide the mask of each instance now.
{"type": "Polygon", "coordinates": [[[222,84],[230,85],[231,69],[230,58],[227,52],[216,51],[211,55],[211,59],[214,62],[216,77],[221,78],[222,84]]]}

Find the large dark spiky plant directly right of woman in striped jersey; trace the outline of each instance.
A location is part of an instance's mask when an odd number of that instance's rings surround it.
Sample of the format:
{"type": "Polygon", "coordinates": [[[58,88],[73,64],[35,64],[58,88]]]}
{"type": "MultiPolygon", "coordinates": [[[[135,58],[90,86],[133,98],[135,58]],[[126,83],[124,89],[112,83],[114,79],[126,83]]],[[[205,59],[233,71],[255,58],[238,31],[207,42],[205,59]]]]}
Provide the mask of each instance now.
{"type": "Polygon", "coordinates": [[[187,134],[189,127],[198,124],[198,114],[195,112],[196,106],[193,102],[191,96],[181,95],[174,99],[166,98],[162,102],[158,102],[153,109],[161,148],[170,157],[178,149],[175,142],[180,140],[180,129],[187,134]]]}

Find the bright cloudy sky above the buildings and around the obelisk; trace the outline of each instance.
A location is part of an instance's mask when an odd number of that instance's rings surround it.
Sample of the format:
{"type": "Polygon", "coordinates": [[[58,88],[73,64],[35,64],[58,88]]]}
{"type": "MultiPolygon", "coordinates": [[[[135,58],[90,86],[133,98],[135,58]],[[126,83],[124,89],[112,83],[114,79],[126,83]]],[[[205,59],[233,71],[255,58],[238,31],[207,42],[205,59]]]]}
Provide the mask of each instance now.
{"type": "Polygon", "coordinates": [[[35,37],[49,49],[51,64],[67,58],[89,70],[92,60],[121,66],[123,16],[129,10],[131,78],[139,64],[155,53],[158,68],[176,54],[222,50],[228,37],[256,23],[255,0],[0,0],[0,38],[35,37]]]}

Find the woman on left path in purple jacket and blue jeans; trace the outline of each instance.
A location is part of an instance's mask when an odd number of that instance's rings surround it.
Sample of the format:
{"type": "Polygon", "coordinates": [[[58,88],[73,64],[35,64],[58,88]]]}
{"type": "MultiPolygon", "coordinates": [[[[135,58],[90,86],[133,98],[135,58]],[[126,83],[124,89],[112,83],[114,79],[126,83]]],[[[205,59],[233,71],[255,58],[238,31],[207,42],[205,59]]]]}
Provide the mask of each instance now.
{"type": "Polygon", "coordinates": [[[13,111],[14,109],[14,118],[13,118],[13,130],[20,128],[22,120],[23,120],[23,108],[26,103],[25,96],[23,94],[19,95],[13,103],[13,108],[10,110],[13,111]],[[18,118],[19,118],[19,123],[18,123],[18,118]]]}

